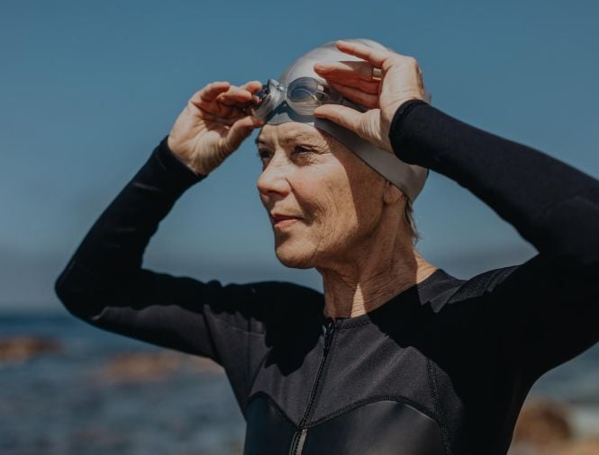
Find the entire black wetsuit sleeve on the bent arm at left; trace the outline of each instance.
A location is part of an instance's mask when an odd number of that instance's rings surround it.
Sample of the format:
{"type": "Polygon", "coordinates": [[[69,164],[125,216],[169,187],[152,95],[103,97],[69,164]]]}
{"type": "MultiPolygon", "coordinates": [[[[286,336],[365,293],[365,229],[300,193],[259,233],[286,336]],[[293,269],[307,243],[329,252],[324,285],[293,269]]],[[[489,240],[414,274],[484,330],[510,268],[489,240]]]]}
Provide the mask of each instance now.
{"type": "Polygon", "coordinates": [[[203,178],[164,138],[95,221],[55,290],[70,313],[94,326],[217,361],[242,400],[265,355],[268,326],[286,305],[299,307],[316,291],[282,281],[222,285],[142,268],[160,220],[203,178]]]}

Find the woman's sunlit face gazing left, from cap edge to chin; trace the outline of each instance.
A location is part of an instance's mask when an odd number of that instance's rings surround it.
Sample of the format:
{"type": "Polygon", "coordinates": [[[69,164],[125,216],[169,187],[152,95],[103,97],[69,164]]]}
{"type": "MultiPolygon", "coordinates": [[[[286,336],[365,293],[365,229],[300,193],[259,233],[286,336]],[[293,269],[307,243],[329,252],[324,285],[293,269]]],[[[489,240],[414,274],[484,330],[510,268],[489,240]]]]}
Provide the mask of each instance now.
{"type": "Polygon", "coordinates": [[[385,179],[320,129],[265,125],[256,139],[257,186],[288,267],[326,267],[361,257],[383,210],[385,179]]]}

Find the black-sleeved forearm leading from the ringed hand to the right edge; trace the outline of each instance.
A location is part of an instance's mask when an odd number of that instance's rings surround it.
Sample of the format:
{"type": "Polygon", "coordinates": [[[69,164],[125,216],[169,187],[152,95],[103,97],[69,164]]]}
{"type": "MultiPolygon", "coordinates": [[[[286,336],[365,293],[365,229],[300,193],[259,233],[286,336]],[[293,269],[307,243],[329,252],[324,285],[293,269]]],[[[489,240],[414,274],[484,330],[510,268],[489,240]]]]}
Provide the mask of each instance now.
{"type": "Polygon", "coordinates": [[[389,138],[396,156],[473,192],[541,254],[599,263],[599,182],[588,174],[422,102],[400,107],[389,138]]]}

